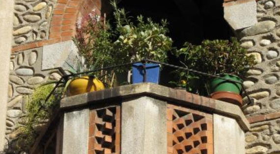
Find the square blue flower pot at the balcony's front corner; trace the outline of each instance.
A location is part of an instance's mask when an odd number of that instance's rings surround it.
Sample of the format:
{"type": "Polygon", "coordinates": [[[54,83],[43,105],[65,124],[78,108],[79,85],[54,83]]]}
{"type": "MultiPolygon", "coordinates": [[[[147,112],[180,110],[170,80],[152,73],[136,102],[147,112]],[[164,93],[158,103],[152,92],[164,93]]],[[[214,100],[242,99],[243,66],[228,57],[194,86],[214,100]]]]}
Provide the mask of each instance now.
{"type": "Polygon", "coordinates": [[[159,84],[160,82],[160,65],[136,63],[132,65],[132,83],[152,82],[159,84]],[[146,80],[145,80],[146,70],[146,80]]]}

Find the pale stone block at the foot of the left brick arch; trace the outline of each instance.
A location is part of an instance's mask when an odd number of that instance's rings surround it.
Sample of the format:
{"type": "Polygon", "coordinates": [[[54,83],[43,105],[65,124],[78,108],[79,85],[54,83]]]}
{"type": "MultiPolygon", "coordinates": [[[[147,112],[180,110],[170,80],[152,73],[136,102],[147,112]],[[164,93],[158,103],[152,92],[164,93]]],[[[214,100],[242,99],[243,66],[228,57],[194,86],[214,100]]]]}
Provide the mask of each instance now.
{"type": "Polygon", "coordinates": [[[43,47],[42,70],[62,67],[69,70],[69,63],[77,65],[77,47],[73,41],[66,41],[43,47]],[[67,62],[67,63],[66,63],[67,62]]]}

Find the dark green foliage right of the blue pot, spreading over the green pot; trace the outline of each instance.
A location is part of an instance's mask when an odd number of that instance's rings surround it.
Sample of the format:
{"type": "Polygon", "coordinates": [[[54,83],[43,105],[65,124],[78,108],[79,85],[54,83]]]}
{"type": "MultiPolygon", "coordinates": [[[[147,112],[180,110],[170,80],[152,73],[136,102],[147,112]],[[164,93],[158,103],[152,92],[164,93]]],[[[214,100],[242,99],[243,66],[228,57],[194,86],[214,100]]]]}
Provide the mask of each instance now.
{"type": "MultiPolygon", "coordinates": [[[[188,42],[175,55],[183,66],[211,75],[232,74],[244,77],[246,72],[255,64],[253,55],[248,56],[248,51],[240,46],[236,38],[228,40],[204,40],[201,45],[192,45],[188,42]]],[[[207,89],[205,76],[198,74],[185,74],[190,78],[187,82],[196,82],[195,87],[200,91],[207,89]],[[191,77],[191,78],[190,78],[191,77]],[[199,83],[192,79],[199,78],[199,83]]],[[[203,92],[205,95],[205,92],[203,92]]]]}

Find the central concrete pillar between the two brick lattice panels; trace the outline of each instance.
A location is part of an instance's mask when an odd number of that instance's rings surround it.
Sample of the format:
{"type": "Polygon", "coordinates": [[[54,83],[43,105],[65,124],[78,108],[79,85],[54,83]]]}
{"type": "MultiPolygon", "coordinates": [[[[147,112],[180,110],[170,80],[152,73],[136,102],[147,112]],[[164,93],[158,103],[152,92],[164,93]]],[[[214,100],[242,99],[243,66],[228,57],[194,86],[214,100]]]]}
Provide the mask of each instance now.
{"type": "Polygon", "coordinates": [[[121,154],[167,154],[167,103],[141,97],[121,108],[121,154]]]}

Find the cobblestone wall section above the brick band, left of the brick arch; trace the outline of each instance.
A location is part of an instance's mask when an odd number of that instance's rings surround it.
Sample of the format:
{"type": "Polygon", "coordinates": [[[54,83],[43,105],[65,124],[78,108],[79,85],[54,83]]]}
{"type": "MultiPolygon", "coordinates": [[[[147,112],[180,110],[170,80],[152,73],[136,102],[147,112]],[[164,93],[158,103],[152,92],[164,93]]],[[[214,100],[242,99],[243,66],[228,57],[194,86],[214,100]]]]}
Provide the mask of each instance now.
{"type": "Polygon", "coordinates": [[[13,45],[47,39],[56,0],[15,0],[13,45]]]}

